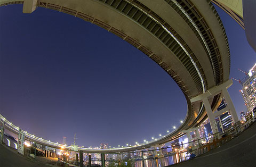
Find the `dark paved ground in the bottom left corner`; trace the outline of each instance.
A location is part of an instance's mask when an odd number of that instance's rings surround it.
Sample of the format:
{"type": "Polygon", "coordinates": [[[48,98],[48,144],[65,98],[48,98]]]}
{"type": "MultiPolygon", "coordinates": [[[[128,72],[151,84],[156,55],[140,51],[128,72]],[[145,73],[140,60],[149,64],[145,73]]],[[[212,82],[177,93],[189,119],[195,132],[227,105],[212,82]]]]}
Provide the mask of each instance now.
{"type": "Polygon", "coordinates": [[[0,144],[0,167],[49,167],[38,162],[32,162],[27,158],[18,155],[17,150],[13,151],[7,146],[0,144]]]}

